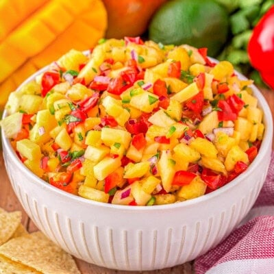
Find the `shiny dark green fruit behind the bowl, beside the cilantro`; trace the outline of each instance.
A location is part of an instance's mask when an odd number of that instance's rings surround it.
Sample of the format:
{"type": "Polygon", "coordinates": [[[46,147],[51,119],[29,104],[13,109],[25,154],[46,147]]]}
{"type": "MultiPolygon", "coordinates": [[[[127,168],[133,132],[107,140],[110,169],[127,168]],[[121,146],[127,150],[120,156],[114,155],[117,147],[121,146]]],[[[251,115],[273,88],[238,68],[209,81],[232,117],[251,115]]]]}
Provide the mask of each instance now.
{"type": "Polygon", "coordinates": [[[153,15],[149,39],[164,45],[207,47],[214,57],[227,40],[228,14],[214,0],[171,0],[153,15]]]}

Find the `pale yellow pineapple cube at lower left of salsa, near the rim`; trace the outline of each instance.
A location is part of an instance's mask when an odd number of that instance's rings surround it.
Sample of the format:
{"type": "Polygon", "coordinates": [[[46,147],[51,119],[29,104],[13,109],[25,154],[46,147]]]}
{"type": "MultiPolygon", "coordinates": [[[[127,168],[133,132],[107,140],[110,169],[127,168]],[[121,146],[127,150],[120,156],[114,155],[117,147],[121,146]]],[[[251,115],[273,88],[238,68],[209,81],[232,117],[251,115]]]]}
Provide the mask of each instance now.
{"type": "Polygon", "coordinates": [[[25,158],[31,161],[40,161],[42,156],[40,146],[29,139],[18,140],[16,150],[25,158]]]}

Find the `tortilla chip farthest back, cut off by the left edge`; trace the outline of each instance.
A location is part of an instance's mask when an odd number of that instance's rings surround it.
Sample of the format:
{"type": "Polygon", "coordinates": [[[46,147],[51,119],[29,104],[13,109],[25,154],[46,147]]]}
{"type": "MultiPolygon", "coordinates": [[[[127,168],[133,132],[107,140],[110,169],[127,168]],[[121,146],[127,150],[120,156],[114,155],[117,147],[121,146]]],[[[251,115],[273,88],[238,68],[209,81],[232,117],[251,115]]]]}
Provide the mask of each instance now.
{"type": "Polygon", "coordinates": [[[21,223],[22,213],[20,211],[14,212],[0,212],[0,245],[7,242],[18,225],[21,223]]]}

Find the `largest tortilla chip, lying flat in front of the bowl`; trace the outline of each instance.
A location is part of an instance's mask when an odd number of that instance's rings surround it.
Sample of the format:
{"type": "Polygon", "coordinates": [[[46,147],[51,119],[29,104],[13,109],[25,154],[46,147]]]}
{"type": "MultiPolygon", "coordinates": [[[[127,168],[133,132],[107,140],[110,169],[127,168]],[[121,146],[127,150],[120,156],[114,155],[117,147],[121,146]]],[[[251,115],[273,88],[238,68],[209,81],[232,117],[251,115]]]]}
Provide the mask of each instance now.
{"type": "Polygon", "coordinates": [[[0,247],[0,254],[44,274],[80,274],[73,257],[42,232],[12,238],[0,247]]]}

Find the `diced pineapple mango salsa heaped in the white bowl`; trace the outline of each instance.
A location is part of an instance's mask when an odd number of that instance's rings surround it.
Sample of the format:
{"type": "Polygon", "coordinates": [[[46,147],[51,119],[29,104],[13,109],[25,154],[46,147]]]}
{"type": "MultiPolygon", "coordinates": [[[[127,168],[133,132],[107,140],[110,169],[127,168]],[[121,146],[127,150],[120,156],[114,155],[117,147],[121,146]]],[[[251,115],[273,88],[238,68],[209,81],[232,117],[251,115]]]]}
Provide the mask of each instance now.
{"type": "Polygon", "coordinates": [[[205,48],[103,39],[12,92],[1,127],[56,188],[119,205],[182,202],[256,158],[264,124],[251,84],[205,48]]]}

